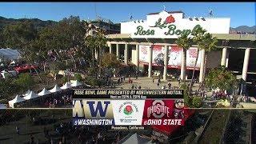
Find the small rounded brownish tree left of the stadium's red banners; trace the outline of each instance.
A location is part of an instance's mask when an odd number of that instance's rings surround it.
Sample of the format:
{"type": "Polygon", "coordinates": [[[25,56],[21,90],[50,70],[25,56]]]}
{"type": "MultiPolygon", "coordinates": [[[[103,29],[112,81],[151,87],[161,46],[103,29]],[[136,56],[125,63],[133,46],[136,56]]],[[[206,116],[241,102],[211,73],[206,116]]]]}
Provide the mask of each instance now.
{"type": "Polygon", "coordinates": [[[104,68],[116,68],[120,65],[117,56],[115,54],[106,53],[102,55],[102,67],[104,68]]]}

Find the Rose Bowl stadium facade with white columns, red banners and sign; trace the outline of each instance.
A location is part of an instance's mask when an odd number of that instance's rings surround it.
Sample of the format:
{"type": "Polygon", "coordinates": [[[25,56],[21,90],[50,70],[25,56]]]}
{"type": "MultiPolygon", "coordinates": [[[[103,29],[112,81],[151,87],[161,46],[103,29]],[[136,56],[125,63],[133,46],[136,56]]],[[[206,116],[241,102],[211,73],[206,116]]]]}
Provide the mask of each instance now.
{"type": "MultiPolygon", "coordinates": [[[[230,18],[185,18],[182,11],[163,10],[147,14],[146,20],[121,22],[121,34],[109,34],[106,38],[110,53],[118,58],[123,55],[126,64],[130,61],[142,70],[147,69],[148,77],[152,77],[153,69],[163,66],[163,79],[166,80],[170,70],[178,70],[182,66],[182,49],[175,40],[182,33],[191,35],[197,26],[218,38],[220,49],[207,54],[206,68],[226,66],[241,74],[245,81],[247,74],[254,74],[255,34],[229,34],[230,18]]],[[[197,54],[196,74],[202,82],[205,64],[202,59],[206,57],[206,51],[199,50],[197,45],[187,50],[186,71],[191,74],[197,54]]]]}

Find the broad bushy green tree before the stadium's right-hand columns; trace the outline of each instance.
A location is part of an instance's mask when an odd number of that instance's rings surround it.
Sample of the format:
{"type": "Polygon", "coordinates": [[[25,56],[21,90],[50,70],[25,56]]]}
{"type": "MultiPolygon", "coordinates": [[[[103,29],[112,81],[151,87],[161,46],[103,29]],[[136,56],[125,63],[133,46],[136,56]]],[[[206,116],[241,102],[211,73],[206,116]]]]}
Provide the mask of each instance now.
{"type": "Polygon", "coordinates": [[[230,70],[226,70],[226,67],[219,66],[210,70],[206,76],[206,86],[213,89],[219,88],[220,90],[234,89],[237,80],[230,70]]]}

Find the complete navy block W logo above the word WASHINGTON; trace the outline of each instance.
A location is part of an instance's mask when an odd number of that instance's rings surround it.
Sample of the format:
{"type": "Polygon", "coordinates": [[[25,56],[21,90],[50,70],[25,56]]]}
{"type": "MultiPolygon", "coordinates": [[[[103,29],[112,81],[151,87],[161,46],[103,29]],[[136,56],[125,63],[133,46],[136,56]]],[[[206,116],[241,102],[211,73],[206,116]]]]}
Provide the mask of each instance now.
{"type": "Polygon", "coordinates": [[[106,110],[107,110],[107,107],[110,105],[110,102],[105,101],[103,103],[104,103],[104,106],[102,106],[102,102],[97,102],[97,104],[95,104],[95,101],[86,102],[86,104],[88,104],[90,108],[90,114],[92,117],[97,117],[98,113],[100,117],[106,116],[106,110]]]}

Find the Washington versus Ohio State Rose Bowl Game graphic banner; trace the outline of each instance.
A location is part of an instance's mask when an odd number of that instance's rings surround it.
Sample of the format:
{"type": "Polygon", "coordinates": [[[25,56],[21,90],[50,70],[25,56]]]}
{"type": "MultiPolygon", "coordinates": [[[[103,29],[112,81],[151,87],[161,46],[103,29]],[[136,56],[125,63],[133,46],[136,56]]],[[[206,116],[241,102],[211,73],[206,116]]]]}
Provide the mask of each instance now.
{"type": "Polygon", "coordinates": [[[74,126],[184,124],[183,90],[74,89],[73,94],[74,126]]]}

